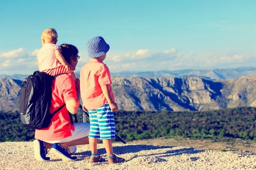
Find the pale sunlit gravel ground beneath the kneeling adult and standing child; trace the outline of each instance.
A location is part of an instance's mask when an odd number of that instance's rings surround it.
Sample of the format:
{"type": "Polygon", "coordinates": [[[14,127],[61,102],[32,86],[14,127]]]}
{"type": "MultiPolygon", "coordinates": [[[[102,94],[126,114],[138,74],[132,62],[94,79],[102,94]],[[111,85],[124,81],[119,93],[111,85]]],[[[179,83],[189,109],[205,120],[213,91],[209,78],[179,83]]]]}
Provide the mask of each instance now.
{"type": "MultiPolygon", "coordinates": [[[[63,162],[53,153],[47,154],[49,162],[38,162],[33,157],[32,142],[0,143],[1,170],[233,170],[256,169],[256,155],[242,155],[232,152],[195,150],[188,147],[153,146],[113,143],[114,153],[126,162],[109,165],[108,162],[89,163],[89,145],[78,146],[77,161],[63,162]]],[[[102,144],[98,152],[106,158],[102,144]]]]}

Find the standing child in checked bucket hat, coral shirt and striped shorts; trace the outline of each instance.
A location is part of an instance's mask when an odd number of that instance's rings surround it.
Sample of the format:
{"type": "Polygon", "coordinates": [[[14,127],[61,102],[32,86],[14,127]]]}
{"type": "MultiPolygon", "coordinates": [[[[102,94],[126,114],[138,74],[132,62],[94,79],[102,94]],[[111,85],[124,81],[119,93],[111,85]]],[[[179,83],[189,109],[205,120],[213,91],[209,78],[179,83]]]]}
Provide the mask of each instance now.
{"type": "Polygon", "coordinates": [[[125,160],[113,153],[112,141],[115,139],[114,111],[118,110],[111,88],[110,71],[103,60],[110,46],[101,36],[87,42],[89,63],[81,68],[80,91],[83,108],[88,110],[90,118],[89,143],[91,148],[90,163],[104,162],[97,151],[97,141],[102,140],[108,155],[108,163],[121,163],[125,160]]]}

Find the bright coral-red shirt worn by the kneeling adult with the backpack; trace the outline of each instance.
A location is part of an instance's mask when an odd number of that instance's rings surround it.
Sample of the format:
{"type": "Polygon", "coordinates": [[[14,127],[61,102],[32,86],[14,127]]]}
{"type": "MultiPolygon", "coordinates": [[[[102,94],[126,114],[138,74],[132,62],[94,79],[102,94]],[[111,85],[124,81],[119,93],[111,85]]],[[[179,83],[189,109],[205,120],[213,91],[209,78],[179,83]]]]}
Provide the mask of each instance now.
{"type": "MultiPolygon", "coordinates": [[[[52,82],[52,102],[50,113],[53,113],[66,101],[76,99],[75,82],[67,74],[59,75],[52,82]]],[[[54,141],[71,136],[74,125],[70,122],[70,117],[66,106],[58,113],[54,114],[48,128],[36,129],[35,138],[39,140],[54,141]]]]}

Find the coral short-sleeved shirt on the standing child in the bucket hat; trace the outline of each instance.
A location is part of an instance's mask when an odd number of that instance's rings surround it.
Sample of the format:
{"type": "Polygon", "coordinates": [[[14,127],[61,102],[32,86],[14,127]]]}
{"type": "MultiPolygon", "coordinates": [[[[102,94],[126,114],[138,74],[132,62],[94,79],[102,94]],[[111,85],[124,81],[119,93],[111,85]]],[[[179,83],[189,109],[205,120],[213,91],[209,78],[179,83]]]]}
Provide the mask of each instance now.
{"type": "Polygon", "coordinates": [[[107,100],[101,90],[101,85],[107,85],[113,101],[114,95],[111,88],[110,70],[101,60],[90,58],[80,71],[80,91],[83,105],[86,109],[97,109],[107,100]]]}

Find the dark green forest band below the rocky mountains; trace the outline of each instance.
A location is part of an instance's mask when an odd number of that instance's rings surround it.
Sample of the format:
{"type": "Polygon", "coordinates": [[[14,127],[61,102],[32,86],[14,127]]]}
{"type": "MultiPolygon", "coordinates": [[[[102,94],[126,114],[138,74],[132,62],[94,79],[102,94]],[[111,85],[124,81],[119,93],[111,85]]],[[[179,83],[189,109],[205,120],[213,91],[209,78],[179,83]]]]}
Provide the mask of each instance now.
{"type": "MultiPolygon", "coordinates": [[[[82,122],[81,111],[77,117],[82,122]]],[[[116,133],[127,142],[175,136],[213,141],[224,141],[227,138],[256,141],[254,107],[186,112],[117,111],[114,117],[116,133]]],[[[0,125],[0,142],[34,139],[34,129],[21,124],[18,112],[0,112],[0,125]]]]}

